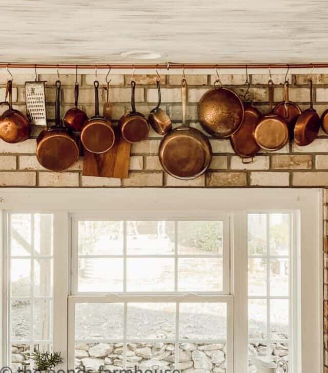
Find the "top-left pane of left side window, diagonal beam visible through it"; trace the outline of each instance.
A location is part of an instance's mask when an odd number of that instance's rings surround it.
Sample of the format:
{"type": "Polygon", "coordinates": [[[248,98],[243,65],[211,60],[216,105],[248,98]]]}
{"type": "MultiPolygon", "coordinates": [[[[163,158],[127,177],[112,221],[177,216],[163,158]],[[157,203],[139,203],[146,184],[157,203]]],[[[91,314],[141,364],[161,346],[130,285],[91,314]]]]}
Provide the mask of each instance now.
{"type": "Polygon", "coordinates": [[[10,215],[10,254],[30,256],[32,250],[31,214],[10,215]]]}

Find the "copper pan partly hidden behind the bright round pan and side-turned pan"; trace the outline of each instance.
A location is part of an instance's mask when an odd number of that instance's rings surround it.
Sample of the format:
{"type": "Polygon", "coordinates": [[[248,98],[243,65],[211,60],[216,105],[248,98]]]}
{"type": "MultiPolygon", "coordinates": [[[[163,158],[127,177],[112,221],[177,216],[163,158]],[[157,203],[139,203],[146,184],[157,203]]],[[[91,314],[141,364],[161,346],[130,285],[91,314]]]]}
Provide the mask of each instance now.
{"type": "Polygon", "coordinates": [[[286,80],[284,82],[284,93],[283,101],[278,103],[274,108],[273,112],[281,116],[288,125],[288,131],[290,138],[294,137],[294,127],[297,118],[301,115],[302,110],[295,102],[289,100],[289,82],[286,80]]]}

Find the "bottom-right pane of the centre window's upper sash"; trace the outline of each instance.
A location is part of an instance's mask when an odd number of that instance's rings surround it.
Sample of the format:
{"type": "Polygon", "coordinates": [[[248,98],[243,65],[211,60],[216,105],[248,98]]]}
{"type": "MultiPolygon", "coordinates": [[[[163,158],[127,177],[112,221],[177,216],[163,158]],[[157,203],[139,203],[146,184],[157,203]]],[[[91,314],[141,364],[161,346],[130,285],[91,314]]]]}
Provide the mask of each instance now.
{"type": "Polygon", "coordinates": [[[222,292],[222,258],[179,258],[178,290],[180,292],[222,292]]]}

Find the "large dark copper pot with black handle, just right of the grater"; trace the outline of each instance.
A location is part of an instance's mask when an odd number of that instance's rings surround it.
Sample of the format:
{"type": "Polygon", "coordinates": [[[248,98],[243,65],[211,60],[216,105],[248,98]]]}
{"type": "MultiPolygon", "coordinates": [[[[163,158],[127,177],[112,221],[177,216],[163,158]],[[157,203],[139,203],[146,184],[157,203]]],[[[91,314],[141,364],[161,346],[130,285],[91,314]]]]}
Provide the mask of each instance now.
{"type": "Polygon", "coordinates": [[[60,81],[56,81],[56,124],[47,127],[37,137],[36,157],[39,163],[51,171],[64,171],[72,167],[79,156],[73,134],[60,120],[60,81]]]}

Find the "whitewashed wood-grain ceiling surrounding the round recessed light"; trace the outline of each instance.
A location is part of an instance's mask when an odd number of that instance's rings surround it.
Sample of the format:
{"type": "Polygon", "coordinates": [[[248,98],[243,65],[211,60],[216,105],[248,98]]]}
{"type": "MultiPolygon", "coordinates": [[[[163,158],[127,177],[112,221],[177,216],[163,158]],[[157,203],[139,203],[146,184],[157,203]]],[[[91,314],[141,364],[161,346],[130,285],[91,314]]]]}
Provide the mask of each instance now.
{"type": "Polygon", "coordinates": [[[0,61],[326,62],[327,24],[326,0],[1,0],[0,61]]]}

